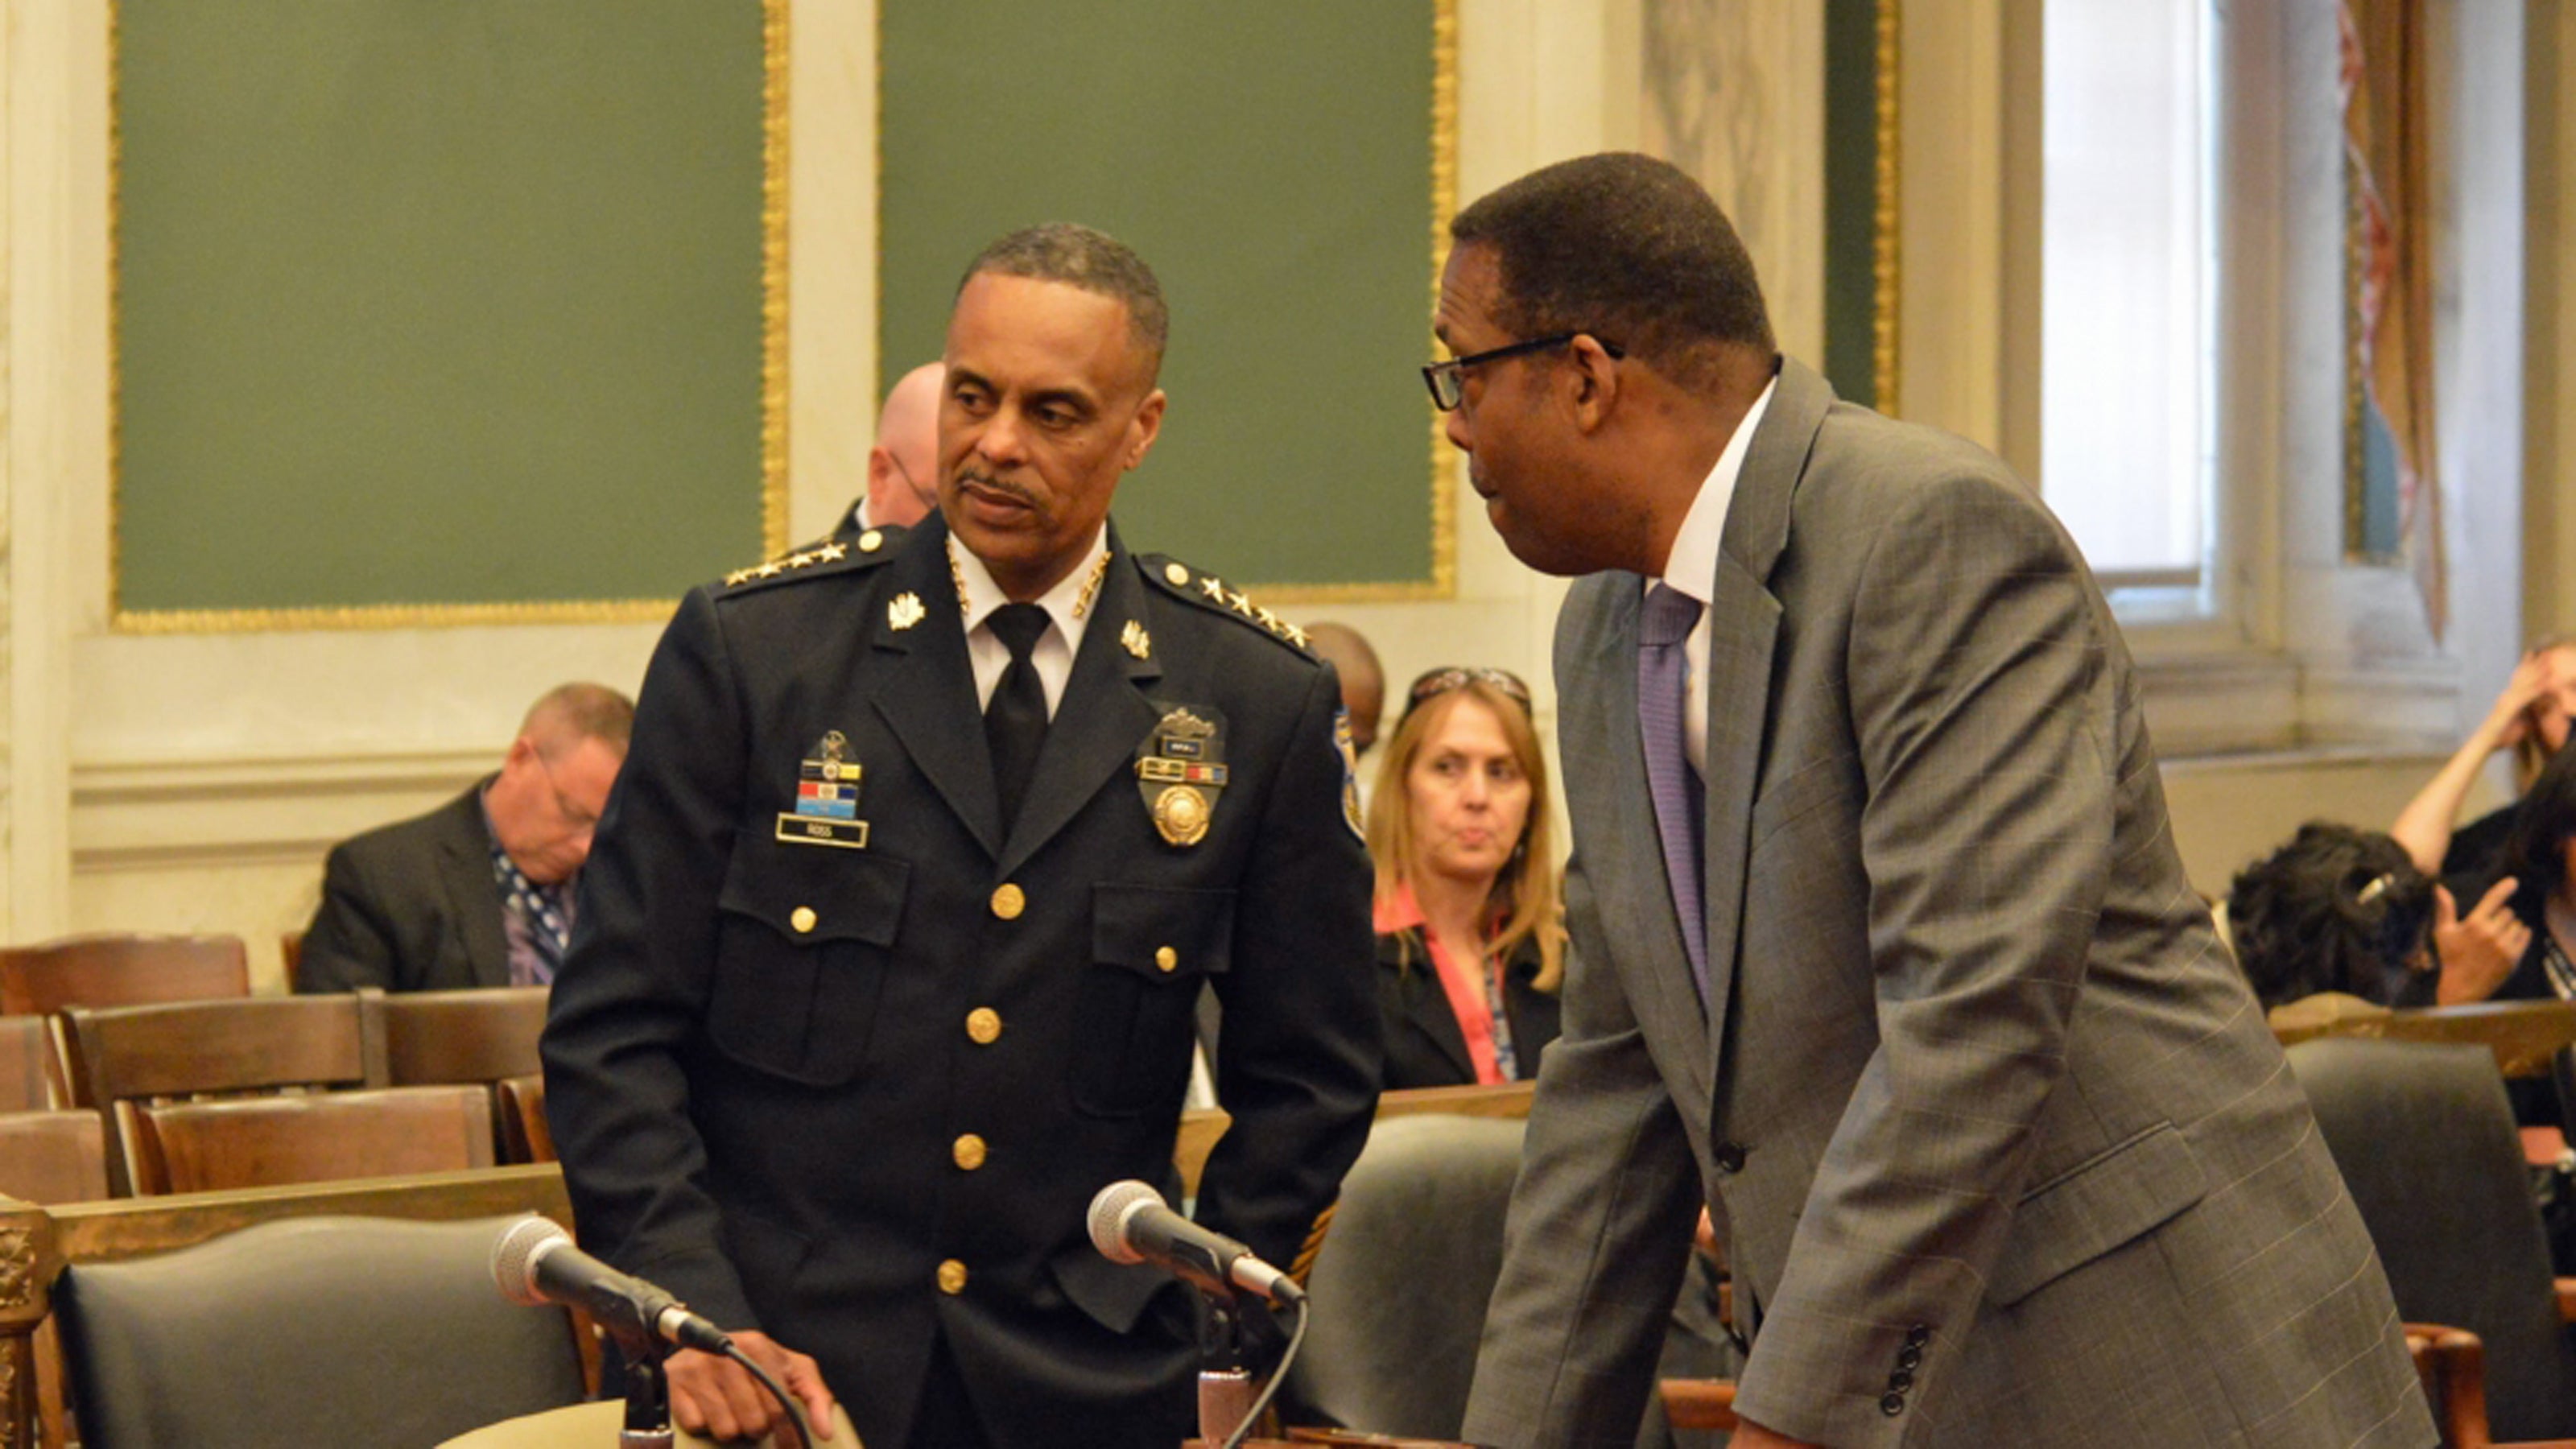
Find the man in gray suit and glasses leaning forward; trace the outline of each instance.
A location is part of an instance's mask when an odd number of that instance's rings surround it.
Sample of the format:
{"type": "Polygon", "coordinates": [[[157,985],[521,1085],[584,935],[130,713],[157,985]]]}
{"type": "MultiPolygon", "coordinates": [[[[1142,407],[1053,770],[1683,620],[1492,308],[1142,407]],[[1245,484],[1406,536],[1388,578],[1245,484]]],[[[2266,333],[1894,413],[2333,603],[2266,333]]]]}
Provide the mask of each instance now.
{"type": "Polygon", "coordinates": [[[1628,1444],[1705,1204],[1739,1449],[2432,1444],[2048,511],[1783,361],[1664,162],[1450,235],[1450,441],[1522,562],[1587,575],[1566,1031],[1466,1436],[1628,1444]]]}

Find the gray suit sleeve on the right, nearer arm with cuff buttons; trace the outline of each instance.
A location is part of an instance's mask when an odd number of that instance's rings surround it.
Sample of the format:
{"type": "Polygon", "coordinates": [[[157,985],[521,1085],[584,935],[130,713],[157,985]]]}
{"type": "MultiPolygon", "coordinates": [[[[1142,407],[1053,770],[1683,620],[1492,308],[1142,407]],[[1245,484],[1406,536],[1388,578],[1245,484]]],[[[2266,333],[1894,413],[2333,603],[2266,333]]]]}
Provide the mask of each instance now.
{"type": "Polygon", "coordinates": [[[2004,480],[1927,485],[1870,544],[1847,678],[1878,1049],[1739,1379],[1754,1423],[1860,1446],[1940,1415],[2120,869],[2112,647],[2074,547],[2004,480]],[[1883,1415],[1917,1325],[1914,1403],[1883,1415]]]}

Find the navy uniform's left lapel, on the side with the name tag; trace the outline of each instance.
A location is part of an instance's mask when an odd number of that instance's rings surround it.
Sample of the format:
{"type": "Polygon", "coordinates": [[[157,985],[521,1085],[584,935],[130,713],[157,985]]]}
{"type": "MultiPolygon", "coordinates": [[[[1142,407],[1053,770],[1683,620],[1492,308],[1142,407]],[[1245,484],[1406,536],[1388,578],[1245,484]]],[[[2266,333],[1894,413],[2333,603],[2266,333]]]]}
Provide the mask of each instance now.
{"type": "Polygon", "coordinates": [[[891,665],[878,673],[878,686],[871,691],[876,714],[984,853],[999,856],[1002,804],[992,786],[974,665],[966,660],[966,619],[958,614],[958,590],[948,575],[948,526],[938,513],[912,531],[904,554],[886,570],[891,578],[878,596],[889,608],[868,621],[873,650],[891,665]],[[922,603],[922,614],[902,624],[891,601],[907,593],[922,603]]]}

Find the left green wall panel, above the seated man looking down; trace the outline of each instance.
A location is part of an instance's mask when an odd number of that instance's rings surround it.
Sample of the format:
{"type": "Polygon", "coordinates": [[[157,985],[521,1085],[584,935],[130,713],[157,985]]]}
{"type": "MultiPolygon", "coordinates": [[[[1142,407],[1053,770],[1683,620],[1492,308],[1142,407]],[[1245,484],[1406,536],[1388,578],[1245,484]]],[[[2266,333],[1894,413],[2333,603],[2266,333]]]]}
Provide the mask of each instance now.
{"type": "Polygon", "coordinates": [[[760,0],[121,0],[118,608],[762,549],[760,0]]]}

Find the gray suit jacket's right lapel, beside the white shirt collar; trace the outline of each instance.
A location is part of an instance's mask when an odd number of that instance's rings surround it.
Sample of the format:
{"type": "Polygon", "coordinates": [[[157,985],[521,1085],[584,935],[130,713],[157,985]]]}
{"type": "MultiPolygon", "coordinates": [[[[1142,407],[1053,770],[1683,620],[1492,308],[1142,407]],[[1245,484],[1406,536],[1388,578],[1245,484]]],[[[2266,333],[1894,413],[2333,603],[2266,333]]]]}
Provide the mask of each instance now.
{"type": "Polygon", "coordinates": [[[1734,998],[1736,946],[1744,931],[1744,871],[1752,861],[1754,789],[1762,781],[1765,722],[1770,719],[1770,663],[1780,639],[1780,601],[1770,593],[1772,565],[1788,547],[1788,508],[1806,472],[1808,449],[1834,389],[1795,361],[1780,376],[1744,454],[1736,492],[1726,505],[1718,575],[1708,606],[1708,1018],[1726,1039],[1734,998]]]}

